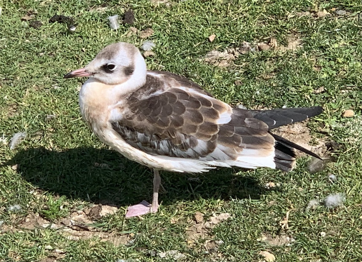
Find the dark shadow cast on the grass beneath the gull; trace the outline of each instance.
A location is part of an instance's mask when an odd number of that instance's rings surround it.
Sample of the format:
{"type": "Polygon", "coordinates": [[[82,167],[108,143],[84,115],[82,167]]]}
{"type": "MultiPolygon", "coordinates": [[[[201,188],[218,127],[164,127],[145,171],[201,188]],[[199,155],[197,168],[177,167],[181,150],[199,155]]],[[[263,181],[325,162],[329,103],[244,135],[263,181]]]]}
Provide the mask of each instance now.
{"type": "MultiPolygon", "coordinates": [[[[64,151],[32,148],[19,151],[5,165],[17,164],[26,181],[53,194],[93,203],[125,206],[152,197],[153,172],[117,152],[93,147],[64,151]]],[[[161,172],[160,200],[259,199],[265,192],[250,176],[235,175],[234,169],[211,170],[203,174],[161,172]]]]}

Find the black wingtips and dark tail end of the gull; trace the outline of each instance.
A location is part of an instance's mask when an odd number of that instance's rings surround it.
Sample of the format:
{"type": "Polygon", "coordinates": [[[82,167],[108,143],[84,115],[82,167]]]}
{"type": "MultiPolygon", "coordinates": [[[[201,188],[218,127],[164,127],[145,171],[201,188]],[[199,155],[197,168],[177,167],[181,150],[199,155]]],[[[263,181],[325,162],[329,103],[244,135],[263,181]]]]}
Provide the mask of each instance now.
{"type": "MultiPolygon", "coordinates": [[[[253,112],[253,117],[265,122],[269,130],[279,126],[300,122],[307,118],[319,115],[323,109],[321,107],[303,107],[273,109],[253,112]]],[[[271,134],[271,133],[270,133],[271,134]]],[[[305,149],[285,138],[271,134],[275,138],[275,167],[283,171],[290,171],[295,167],[295,150],[302,151],[313,157],[319,158],[319,155],[305,149]]]]}

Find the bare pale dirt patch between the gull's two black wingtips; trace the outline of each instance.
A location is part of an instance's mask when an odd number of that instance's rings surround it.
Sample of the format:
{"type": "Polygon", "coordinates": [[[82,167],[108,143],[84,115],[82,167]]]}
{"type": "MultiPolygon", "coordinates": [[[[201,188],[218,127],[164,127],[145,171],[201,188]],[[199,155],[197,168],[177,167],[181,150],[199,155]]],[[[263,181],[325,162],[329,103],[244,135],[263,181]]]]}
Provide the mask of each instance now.
{"type": "MultiPolygon", "coordinates": [[[[317,140],[315,145],[310,145],[313,140],[310,130],[307,127],[307,122],[298,122],[291,125],[281,126],[272,130],[273,134],[281,136],[287,140],[294,142],[304,148],[319,154],[323,155],[327,151],[327,147],[323,140],[317,140]]],[[[296,155],[304,155],[305,153],[296,150],[296,155]]]]}

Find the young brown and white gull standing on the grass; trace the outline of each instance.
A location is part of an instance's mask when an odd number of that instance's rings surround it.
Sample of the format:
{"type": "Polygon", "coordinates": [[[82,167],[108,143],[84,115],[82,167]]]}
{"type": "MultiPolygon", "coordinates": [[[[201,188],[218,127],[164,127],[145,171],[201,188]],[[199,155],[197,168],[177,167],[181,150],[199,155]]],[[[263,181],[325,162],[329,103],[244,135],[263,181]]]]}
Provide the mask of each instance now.
{"type": "MultiPolygon", "coordinates": [[[[321,107],[232,108],[198,84],[170,72],[148,71],[140,51],[119,42],[64,78],[87,76],[81,115],[94,134],[126,158],[153,169],[152,204],[127,208],[126,217],[159,208],[159,170],[205,172],[215,167],[270,167],[290,171],[295,149],[271,129],[319,115],[321,107]]],[[[319,157],[318,157],[319,158],[319,157]]]]}

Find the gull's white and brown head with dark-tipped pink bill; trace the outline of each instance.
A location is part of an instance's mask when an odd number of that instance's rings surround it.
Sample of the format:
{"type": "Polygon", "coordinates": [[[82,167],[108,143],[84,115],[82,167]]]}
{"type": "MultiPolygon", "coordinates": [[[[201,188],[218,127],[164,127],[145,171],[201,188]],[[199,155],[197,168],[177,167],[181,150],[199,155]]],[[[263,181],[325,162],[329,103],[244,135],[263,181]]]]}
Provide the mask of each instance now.
{"type": "Polygon", "coordinates": [[[146,78],[146,63],[139,50],[130,43],[119,42],[106,46],[86,67],[64,75],[64,78],[91,76],[104,84],[116,85],[132,76],[146,78]]]}

